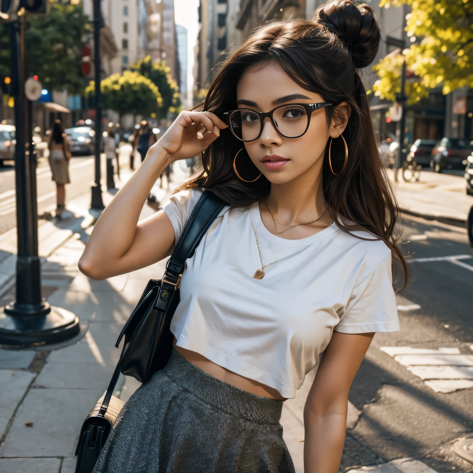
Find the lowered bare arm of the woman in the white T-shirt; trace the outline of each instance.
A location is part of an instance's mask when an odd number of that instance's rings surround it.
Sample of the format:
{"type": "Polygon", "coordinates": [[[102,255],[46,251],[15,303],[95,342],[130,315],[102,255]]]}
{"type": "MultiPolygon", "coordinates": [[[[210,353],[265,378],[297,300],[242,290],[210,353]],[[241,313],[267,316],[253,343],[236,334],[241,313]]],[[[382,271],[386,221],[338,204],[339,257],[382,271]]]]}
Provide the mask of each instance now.
{"type": "Polygon", "coordinates": [[[374,333],[333,332],[304,408],[304,472],[338,473],[348,392],[374,333]]]}

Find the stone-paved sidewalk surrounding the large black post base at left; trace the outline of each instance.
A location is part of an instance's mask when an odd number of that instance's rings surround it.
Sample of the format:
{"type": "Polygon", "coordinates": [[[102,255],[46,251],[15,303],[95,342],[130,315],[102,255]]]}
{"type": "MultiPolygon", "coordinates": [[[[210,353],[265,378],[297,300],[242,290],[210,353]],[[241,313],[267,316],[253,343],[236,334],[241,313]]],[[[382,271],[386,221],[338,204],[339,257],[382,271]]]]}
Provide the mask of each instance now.
{"type": "MultiPolygon", "coordinates": [[[[130,175],[123,170],[121,184],[130,175]]],[[[185,178],[178,166],[174,177],[166,197],[185,178]]],[[[112,198],[103,193],[105,205],[112,198]]],[[[43,296],[52,306],[78,315],[80,334],[54,346],[0,349],[2,473],[75,471],[79,430],[110,381],[120,354],[114,347],[118,334],[147,281],[164,272],[163,261],[105,281],[80,273],[77,263],[95,220],[89,203],[88,192],[67,205],[74,218],[47,222],[39,230],[43,296]]],[[[142,216],[153,212],[145,204],[142,216]]],[[[0,306],[4,306],[15,292],[16,229],[1,236],[0,248],[0,306]]],[[[121,376],[115,395],[126,401],[138,385],[121,376]]]]}

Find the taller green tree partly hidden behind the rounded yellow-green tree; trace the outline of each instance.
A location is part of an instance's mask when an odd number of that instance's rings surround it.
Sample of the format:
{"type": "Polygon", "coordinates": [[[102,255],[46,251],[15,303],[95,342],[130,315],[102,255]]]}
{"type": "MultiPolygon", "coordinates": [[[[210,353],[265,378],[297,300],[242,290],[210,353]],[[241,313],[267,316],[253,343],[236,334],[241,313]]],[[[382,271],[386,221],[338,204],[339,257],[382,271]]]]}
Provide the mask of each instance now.
{"type": "Polygon", "coordinates": [[[151,56],[146,56],[136,64],[131,66],[131,70],[136,70],[145,77],[151,79],[159,89],[163,97],[163,106],[158,117],[166,117],[167,112],[178,112],[181,106],[179,99],[179,87],[171,77],[171,69],[166,66],[165,61],[153,62],[151,56]]]}

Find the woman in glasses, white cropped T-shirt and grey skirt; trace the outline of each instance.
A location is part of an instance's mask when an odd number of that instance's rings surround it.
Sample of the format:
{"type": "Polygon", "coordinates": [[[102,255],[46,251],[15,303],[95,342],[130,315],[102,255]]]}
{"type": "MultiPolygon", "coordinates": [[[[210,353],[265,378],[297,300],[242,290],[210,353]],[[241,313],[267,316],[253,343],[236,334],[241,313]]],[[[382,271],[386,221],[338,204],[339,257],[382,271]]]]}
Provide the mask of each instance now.
{"type": "Polygon", "coordinates": [[[373,10],[348,0],[262,27],[105,209],[79,262],[94,279],[169,255],[202,189],[231,205],[187,260],[170,361],[94,472],[293,472],[282,402],[317,365],[305,472],[338,472],[351,382],[374,333],[399,330],[397,210],[357,73],[378,43],[373,10]],[[138,223],[162,170],[200,153],[200,175],[138,223]]]}

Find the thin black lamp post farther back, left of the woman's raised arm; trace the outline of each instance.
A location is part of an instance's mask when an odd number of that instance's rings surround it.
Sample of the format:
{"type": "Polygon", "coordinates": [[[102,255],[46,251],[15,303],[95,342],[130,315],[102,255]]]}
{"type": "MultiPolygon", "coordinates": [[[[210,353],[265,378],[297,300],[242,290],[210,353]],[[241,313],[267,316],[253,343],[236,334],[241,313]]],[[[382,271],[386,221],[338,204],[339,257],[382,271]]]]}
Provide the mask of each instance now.
{"type": "Polygon", "coordinates": [[[100,93],[100,0],[94,0],[94,67],[95,67],[95,183],[92,185],[92,209],[104,209],[100,186],[100,151],[102,148],[102,104],[100,93]]]}

